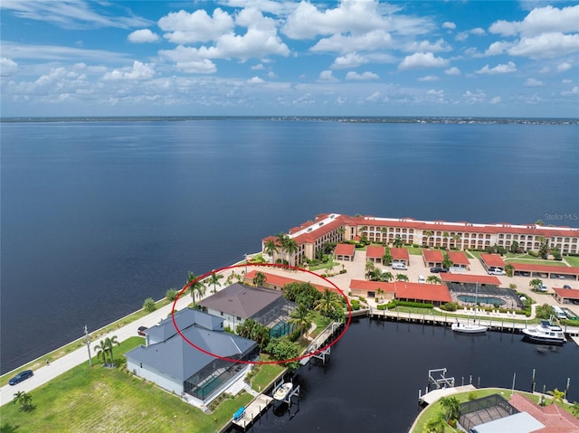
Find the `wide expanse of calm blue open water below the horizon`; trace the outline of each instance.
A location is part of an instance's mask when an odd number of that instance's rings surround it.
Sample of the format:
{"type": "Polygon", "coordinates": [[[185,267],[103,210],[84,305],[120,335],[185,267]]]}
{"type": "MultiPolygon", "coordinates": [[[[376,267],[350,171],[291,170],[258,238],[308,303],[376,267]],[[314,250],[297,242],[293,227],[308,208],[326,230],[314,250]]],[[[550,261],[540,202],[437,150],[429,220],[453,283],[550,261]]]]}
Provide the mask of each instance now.
{"type": "Polygon", "coordinates": [[[547,217],[579,213],[578,133],[260,119],[3,123],[1,370],[319,212],[576,226],[547,217]]]}

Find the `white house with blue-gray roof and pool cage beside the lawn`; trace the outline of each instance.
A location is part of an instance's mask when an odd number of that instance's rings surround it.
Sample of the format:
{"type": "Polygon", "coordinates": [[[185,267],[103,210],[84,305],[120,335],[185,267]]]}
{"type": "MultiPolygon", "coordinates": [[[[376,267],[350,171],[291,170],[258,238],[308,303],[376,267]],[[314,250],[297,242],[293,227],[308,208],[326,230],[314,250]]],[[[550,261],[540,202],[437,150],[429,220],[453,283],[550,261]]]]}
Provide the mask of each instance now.
{"type": "Polygon", "coordinates": [[[178,395],[185,392],[206,403],[247,366],[219,357],[253,361],[259,356],[258,344],[223,332],[221,317],[185,308],[175,313],[175,321],[183,336],[168,317],[147,329],[146,345],[125,353],[130,372],[166,391],[178,395]]]}

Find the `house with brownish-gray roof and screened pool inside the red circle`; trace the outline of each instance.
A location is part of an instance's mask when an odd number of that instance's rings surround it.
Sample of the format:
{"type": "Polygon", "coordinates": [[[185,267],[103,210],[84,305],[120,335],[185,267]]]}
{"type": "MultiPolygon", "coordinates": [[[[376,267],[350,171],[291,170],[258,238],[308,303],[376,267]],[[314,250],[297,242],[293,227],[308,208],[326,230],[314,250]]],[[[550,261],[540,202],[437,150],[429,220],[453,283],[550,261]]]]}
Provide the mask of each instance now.
{"type": "Polygon", "coordinates": [[[261,325],[274,325],[282,318],[287,318],[296,307],[280,290],[244,286],[240,283],[205,297],[199,305],[210,315],[223,317],[224,325],[231,329],[246,319],[253,319],[261,325]]]}

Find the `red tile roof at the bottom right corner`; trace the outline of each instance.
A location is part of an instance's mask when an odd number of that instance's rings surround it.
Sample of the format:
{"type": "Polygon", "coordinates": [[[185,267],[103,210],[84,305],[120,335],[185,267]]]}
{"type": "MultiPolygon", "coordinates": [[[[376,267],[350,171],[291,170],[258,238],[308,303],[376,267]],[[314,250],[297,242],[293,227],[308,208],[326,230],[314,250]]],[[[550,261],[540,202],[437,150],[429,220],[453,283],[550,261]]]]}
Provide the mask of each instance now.
{"type": "Polygon", "coordinates": [[[556,404],[538,406],[521,394],[513,394],[509,403],[519,412],[527,412],[545,426],[534,433],[579,433],[579,419],[556,404]]]}

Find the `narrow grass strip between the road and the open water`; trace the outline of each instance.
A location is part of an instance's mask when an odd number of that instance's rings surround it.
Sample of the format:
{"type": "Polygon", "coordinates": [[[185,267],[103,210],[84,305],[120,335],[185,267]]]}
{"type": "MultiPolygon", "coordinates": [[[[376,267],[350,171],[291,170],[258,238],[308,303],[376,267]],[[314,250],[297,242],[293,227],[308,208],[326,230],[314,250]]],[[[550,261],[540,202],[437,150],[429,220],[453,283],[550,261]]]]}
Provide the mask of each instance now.
{"type": "MultiPolygon", "coordinates": [[[[157,305],[157,309],[160,308],[161,306],[166,306],[167,304],[169,304],[172,301],[167,301],[166,298],[160,299],[156,302],[157,305]]],[[[98,338],[102,335],[108,334],[111,331],[114,331],[116,329],[121,328],[122,326],[128,325],[142,317],[145,317],[146,315],[149,315],[150,313],[147,313],[147,311],[140,309],[138,311],[136,311],[135,313],[133,313],[132,315],[127,315],[126,317],[123,317],[121,319],[119,319],[117,322],[113,322],[110,325],[105,326],[104,328],[100,328],[96,331],[94,331],[93,333],[90,333],[90,341],[92,343],[97,342],[98,338]]],[[[62,358],[62,356],[67,355],[68,353],[74,352],[77,349],[80,349],[81,347],[85,347],[85,342],[84,342],[84,338],[81,338],[79,340],[76,340],[70,344],[66,344],[64,346],[62,346],[61,348],[52,351],[51,353],[47,353],[43,356],[41,356],[40,358],[38,358],[37,360],[33,361],[33,362],[28,362],[27,364],[23,365],[22,367],[18,368],[17,370],[14,370],[14,372],[7,372],[5,373],[3,376],[0,377],[0,386],[5,386],[6,384],[8,384],[8,381],[10,380],[11,377],[14,376],[14,374],[16,374],[17,372],[22,372],[23,370],[37,370],[40,367],[42,367],[44,365],[44,362],[46,360],[46,358],[50,359],[51,362],[52,361],[56,361],[59,358],[62,358]]]]}

